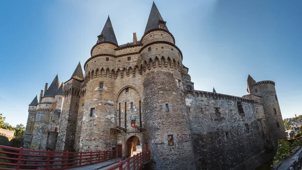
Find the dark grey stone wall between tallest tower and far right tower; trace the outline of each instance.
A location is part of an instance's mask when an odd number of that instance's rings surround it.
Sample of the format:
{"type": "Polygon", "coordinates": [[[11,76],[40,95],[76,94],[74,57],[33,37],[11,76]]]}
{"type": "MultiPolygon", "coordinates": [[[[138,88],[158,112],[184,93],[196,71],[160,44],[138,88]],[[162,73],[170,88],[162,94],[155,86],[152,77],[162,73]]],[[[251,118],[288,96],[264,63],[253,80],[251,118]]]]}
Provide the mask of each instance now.
{"type": "Polygon", "coordinates": [[[199,91],[187,94],[186,105],[197,169],[255,169],[270,158],[259,154],[267,144],[261,105],[240,97],[199,91]],[[244,113],[239,112],[238,101],[244,113]],[[259,160],[245,166],[254,156],[259,160]]]}

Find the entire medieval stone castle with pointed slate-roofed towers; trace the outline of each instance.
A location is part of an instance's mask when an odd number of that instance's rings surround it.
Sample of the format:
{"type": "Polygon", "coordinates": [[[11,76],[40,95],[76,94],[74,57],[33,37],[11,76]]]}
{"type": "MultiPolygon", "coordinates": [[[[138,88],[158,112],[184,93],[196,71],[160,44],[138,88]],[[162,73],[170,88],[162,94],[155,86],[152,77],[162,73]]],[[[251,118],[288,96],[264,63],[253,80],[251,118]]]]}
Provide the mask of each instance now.
{"type": "Polygon", "coordinates": [[[243,97],[198,91],[182,60],[154,3],[132,43],[118,45],[108,17],[85,74],[79,63],[29,104],[24,147],[118,157],[148,149],[155,169],[254,169],[271,158],[286,139],[275,83],[249,76],[243,97]]]}

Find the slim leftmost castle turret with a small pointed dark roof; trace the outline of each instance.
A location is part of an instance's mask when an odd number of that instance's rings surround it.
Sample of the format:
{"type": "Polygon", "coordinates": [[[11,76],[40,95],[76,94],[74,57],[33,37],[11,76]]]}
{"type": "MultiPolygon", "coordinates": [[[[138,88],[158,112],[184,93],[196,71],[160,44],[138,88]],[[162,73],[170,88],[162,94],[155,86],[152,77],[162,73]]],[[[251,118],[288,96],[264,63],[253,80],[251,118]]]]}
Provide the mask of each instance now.
{"type": "Polygon", "coordinates": [[[32,141],[33,130],[36,120],[36,109],[38,104],[38,96],[36,96],[28,107],[28,118],[26,123],[25,135],[24,135],[24,148],[28,148],[32,141]]]}

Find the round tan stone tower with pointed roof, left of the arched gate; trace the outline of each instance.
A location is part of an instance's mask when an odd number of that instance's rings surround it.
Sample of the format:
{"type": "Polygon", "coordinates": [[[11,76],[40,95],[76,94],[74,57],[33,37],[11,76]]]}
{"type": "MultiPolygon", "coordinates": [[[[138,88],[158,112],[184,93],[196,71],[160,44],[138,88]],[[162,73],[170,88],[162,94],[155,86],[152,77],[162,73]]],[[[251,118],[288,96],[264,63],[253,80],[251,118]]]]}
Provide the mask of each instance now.
{"type": "MultiPolygon", "coordinates": [[[[114,65],[117,41],[108,16],[92,57],[86,61],[86,95],[81,133],[81,150],[112,149],[108,129],[115,127],[114,65]]],[[[114,144],[113,144],[114,145],[114,144]]]]}

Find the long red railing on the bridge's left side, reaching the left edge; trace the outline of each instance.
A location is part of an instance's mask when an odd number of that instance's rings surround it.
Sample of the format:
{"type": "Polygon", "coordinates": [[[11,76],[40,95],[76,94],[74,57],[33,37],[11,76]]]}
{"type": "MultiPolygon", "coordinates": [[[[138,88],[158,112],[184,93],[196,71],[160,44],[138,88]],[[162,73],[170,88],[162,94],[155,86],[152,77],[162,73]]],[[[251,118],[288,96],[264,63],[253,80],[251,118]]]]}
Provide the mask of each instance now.
{"type": "Polygon", "coordinates": [[[0,169],[66,169],[103,162],[114,156],[115,150],[56,152],[0,145],[0,169]]]}

